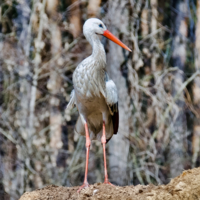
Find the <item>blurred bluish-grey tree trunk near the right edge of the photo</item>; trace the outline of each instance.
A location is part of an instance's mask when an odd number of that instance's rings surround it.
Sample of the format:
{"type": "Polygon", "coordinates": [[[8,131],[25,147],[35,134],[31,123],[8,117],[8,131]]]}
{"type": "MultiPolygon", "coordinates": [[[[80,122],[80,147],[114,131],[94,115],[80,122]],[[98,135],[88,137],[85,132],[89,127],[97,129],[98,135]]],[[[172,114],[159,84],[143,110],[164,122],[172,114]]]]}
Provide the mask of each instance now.
{"type": "MultiPolygon", "coordinates": [[[[174,80],[172,82],[172,96],[175,96],[183,84],[186,60],[186,37],[188,25],[186,23],[187,16],[187,2],[176,1],[176,20],[174,24],[174,40],[173,40],[173,53],[172,62],[174,67],[178,67],[174,74],[174,80]]],[[[170,177],[175,177],[180,174],[184,169],[183,164],[183,151],[184,151],[184,137],[186,136],[186,116],[184,112],[185,100],[184,93],[180,95],[179,99],[174,105],[171,122],[171,141],[170,141],[170,177]]]]}

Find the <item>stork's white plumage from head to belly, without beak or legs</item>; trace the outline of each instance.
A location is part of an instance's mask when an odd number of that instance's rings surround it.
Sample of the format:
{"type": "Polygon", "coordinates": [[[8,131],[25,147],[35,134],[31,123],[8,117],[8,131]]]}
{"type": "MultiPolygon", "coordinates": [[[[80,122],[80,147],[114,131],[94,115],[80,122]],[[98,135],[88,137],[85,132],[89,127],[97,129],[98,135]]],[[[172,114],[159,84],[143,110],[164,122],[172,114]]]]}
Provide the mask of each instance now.
{"type": "MultiPolygon", "coordinates": [[[[101,139],[103,121],[106,127],[106,139],[114,134],[110,107],[117,104],[117,88],[106,73],[106,55],[98,34],[103,34],[106,26],[99,19],[91,18],[83,26],[83,33],[93,47],[92,55],[84,59],[73,73],[74,92],[68,108],[76,104],[81,117],[77,120],[75,131],[85,135],[84,124],[88,123],[91,139],[101,139]],[[102,24],[103,28],[99,27],[102,24]]],[[[118,112],[116,110],[116,114],[118,112]]],[[[116,120],[118,118],[116,117],[116,120]]],[[[118,122],[116,122],[118,123],[118,122]]],[[[117,130],[115,130],[115,133],[117,130]]]]}

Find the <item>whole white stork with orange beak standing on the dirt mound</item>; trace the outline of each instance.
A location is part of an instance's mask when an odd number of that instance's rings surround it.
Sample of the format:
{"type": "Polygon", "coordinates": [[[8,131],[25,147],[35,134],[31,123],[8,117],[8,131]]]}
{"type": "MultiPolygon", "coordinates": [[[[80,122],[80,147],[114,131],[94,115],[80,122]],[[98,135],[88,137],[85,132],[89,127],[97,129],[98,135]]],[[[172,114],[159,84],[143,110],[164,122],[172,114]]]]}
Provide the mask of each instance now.
{"type": "Polygon", "coordinates": [[[83,34],[92,46],[92,54],[85,58],[73,72],[74,89],[67,105],[67,109],[76,105],[79,117],[75,132],[86,137],[85,178],[78,192],[89,187],[87,175],[91,140],[100,140],[103,145],[104,183],[112,185],[107,174],[105,145],[113,134],[118,132],[118,94],[115,83],[106,72],[106,53],[99,35],[105,36],[131,52],[131,49],[109,32],[105,24],[97,18],[89,18],[85,21],[83,34]]]}

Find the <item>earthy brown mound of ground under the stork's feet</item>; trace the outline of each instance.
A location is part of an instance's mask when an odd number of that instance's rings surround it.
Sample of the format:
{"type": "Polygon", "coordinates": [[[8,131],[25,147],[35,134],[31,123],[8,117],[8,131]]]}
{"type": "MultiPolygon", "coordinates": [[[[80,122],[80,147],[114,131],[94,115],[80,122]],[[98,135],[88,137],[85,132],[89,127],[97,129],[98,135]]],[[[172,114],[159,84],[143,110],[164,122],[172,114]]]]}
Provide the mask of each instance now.
{"type": "Polygon", "coordinates": [[[77,189],[50,185],[26,192],[20,200],[200,200],[200,167],[184,171],[167,185],[119,187],[97,183],[79,194],[77,189]]]}

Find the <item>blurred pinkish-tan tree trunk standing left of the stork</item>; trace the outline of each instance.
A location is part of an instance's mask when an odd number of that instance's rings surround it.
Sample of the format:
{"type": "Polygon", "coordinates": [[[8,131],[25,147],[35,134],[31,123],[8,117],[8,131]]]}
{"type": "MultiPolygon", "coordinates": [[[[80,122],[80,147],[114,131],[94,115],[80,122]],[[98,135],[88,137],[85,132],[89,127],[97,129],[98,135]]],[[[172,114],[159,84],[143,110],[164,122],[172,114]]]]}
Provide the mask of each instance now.
{"type": "MultiPolygon", "coordinates": [[[[50,15],[50,30],[51,30],[51,55],[54,57],[62,47],[61,43],[61,31],[57,24],[57,7],[58,0],[48,0],[47,1],[47,12],[50,15]]],[[[62,59],[62,58],[60,58],[62,59]]],[[[48,89],[50,90],[52,96],[50,97],[49,104],[50,108],[50,146],[54,149],[52,154],[53,166],[56,166],[56,157],[58,155],[58,150],[62,147],[62,115],[59,110],[60,100],[56,97],[61,88],[61,78],[58,74],[59,60],[55,62],[50,62],[50,78],[48,81],[48,89]],[[54,96],[55,95],[55,96],[54,96]]]]}

